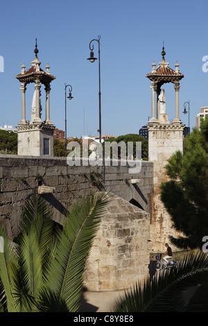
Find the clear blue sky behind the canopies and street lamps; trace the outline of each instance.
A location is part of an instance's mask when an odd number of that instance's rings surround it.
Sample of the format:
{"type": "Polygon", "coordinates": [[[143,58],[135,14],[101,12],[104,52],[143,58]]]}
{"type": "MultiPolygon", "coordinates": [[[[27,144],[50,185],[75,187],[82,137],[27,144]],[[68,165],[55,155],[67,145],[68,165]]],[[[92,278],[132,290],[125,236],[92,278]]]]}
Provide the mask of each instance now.
{"type": "MultiPolygon", "coordinates": [[[[1,1],[0,126],[17,126],[21,119],[19,80],[38,57],[51,74],[51,120],[64,130],[64,83],[73,87],[67,100],[67,136],[98,135],[98,60],[89,57],[89,42],[101,35],[102,134],[138,133],[151,114],[150,80],[153,59],[161,61],[162,43],[169,67],[178,61],[180,119],[188,126],[184,102],[190,101],[190,126],[200,107],[208,106],[208,73],[202,58],[208,55],[208,2],[139,0],[1,1]]],[[[98,46],[94,44],[98,55],[98,46]]],[[[166,111],[175,117],[175,89],[164,85],[166,111]]],[[[27,85],[26,119],[31,119],[34,85],[27,85]]],[[[42,87],[42,107],[45,92],[42,87]]],[[[43,113],[44,116],[44,113],[43,113]]]]}

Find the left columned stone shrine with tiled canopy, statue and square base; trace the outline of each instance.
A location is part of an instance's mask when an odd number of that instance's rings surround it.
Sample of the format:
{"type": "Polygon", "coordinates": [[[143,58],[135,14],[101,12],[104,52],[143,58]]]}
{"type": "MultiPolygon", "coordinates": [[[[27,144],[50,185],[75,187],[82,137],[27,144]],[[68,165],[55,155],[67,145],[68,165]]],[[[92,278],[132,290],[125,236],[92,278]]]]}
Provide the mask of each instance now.
{"type": "Polygon", "coordinates": [[[55,76],[49,71],[49,64],[44,71],[40,65],[41,62],[37,57],[37,38],[35,39],[35,60],[31,62],[31,67],[25,70],[25,65],[21,66],[21,74],[16,78],[21,83],[21,121],[17,126],[18,133],[18,155],[49,155],[53,156],[53,130],[55,126],[50,120],[50,92],[51,82],[55,76]],[[26,120],[26,85],[35,84],[33,95],[31,121],[26,120]],[[46,114],[45,120],[42,121],[42,105],[40,102],[41,87],[44,85],[46,91],[46,114]],[[29,139],[29,140],[27,140],[29,139]]]}

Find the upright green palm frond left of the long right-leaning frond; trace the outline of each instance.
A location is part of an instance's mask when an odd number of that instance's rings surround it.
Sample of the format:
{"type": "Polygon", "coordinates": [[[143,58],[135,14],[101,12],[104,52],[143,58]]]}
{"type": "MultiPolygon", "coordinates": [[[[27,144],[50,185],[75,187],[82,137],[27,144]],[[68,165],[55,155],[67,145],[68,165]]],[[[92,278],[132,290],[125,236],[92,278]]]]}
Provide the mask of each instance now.
{"type": "Polygon", "coordinates": [[[34,298],[40,294],[42,279],[48,268],[56,223],[52,220],[46,200],[33,195],[26,203],[21,232],[15,239],[21,278],[28,284],[34,298]]]}

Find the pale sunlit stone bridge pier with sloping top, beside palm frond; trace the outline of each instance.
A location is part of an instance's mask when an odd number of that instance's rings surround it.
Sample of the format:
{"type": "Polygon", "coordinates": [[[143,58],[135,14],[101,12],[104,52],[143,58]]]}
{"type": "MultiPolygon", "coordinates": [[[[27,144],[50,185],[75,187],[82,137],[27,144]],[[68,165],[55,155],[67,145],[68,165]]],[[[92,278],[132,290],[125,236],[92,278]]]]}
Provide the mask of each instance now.
{"type": "Polygon", "coordinates": [[[84,285],[89,291],[130,289],[149,273],[150,214],[111,197],[87,261],[84,285]]]}

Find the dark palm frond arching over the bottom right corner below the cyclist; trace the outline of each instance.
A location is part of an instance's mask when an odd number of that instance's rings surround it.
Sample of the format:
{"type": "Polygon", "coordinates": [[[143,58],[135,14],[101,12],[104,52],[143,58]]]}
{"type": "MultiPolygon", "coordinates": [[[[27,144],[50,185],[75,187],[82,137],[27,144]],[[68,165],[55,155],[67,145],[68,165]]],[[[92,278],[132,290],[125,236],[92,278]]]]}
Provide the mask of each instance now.
{"type": "Polygon", "coordinates": [[[185,291],[203,286],[207,277],[207,254],[191,253],[177,261],[175,268],[160,271],[153,280],[148,277],[144,284],[135,284],[124,298],[116,300],[114,312],[184,312],[185,291]]]}

